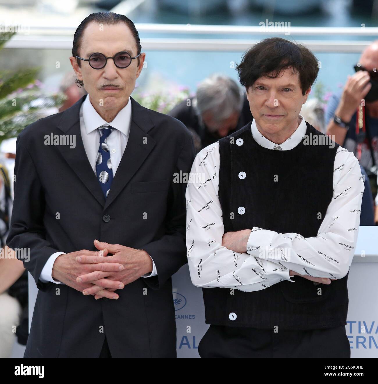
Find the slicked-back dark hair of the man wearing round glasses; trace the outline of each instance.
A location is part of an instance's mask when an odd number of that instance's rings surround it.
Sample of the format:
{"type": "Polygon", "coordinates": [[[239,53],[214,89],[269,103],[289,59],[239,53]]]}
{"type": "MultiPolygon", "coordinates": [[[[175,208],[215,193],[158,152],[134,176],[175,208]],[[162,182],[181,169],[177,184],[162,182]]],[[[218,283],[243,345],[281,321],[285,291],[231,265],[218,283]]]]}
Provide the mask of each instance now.
{"type": "MultiPolygon", "coordinates": [[[[135,28],[134,23],[125,15],[119,15],[118,13],[114,12],[96,12],[91,13],[89,16],[87,16],[77,27],[75,34],[73,35],[73,45],[72,45],[72,56],[76,58],[76,56],[79,56],[79,48],[80,43],[82,42],[82,36],[85,30],[85,27],[92,22],[96,22],[98,24],[107,24],[107,25],[115,25],[118,23],[125,23],[129,28],[134,36],[135,43],[137,44],[137,55],[142,51],[142,46],[140,45],[140,38],[139,33],[137,31],[137,28],[135,28]]],[[[81,66],[81,60],[77,59],[77,65],[81,66]]],[[[138,57],[138,65],[140,64],[139,57],[138,57]]],[[[84,83],[82,80],[78,80],[75,78],[75,83],[84,86],[84,83]]]]}

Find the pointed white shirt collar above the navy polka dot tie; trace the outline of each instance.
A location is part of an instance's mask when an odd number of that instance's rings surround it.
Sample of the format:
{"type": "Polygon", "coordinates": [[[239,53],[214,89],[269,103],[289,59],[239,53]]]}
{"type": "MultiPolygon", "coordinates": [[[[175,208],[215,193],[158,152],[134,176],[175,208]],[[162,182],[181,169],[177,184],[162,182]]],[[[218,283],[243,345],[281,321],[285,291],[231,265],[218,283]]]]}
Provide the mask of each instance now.
{"type": "Polygon", "coordinates": [[[130,122],[131,122],[131,100],[128,99],[127,104],[123,107],[113,119],[112,122],[105,121],[93,108],[92,103],[89,100],[89,95],[83,101],[83,119],[85,125],[85,131],[87,134],[94,131],[101,126],[112,126],[118,131],[121,131],[126,136],[130,132],[130,122]]]}

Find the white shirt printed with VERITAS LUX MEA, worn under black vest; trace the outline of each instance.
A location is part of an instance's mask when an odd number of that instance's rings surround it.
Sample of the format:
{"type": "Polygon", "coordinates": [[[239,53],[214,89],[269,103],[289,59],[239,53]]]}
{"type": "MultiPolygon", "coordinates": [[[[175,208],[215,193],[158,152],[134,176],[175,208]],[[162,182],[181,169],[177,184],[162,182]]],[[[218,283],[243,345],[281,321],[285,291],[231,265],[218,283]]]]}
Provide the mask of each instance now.
{"type": "MultiPolygon", "coordinates": [[[[299,117],[298,128],[279,145],[281,150],[290,151],[305,136],[306,123],[301,115],[299,117]]],[[[278,147],[258,131],[255,120],[251,131],[260,146],[278,147]]],[[[342,278],[346,275],[353,260],[365,188],[358,160],[352,152],[342,147],[337,149],[333,199],[316,237],[303,238],[299,233],[282,234],[253,227],[246,253],[222,247],[224,226],[218,199],[219,164],[218,142],[202,149],[193,163],[186,192],[187,257],[194,285],[251,292],[282,280],[294,282],[289,270],[314,277],[342,278]],[[290,253],[290,257],[283,255],[277,259],[274,250],[280,248],[290,253]]],[[[315,194],[316,190],[309,193],[315,194]]]]}

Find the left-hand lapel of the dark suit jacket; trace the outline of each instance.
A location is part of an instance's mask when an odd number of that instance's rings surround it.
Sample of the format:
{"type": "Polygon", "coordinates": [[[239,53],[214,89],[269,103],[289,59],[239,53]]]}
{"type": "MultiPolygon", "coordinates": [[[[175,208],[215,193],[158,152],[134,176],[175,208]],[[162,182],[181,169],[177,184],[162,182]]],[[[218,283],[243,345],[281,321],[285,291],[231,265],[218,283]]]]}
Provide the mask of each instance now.
{"type": "Polygon", "coordinates": [[[80,131],[79,112],[86,96],[87,95],[83,96],[76,104],[66,109],[58,124],[58,128],[66,135],[75,135],[75,148],[70,148],[70,146],[58,146],[58,148],[67,164],[72,168],[75,174],[77,174],[79,180],[103,206],[105,204],[105,197],[88,160],[80,131]]]}

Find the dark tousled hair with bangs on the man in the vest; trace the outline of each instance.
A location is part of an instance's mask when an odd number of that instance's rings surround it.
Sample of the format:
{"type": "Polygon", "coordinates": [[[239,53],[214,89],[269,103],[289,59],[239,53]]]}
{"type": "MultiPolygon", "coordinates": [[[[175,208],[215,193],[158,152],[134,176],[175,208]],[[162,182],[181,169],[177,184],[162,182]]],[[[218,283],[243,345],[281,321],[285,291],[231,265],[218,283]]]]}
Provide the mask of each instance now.
{"type": "Polygon", "coordinates": [[[293,74],[299,72],[302,94],[310,88],[318,76],[318,60],[305,46],[271,37],[252,46],[241,58],[236,67],[241,85],[246,90],[261,76],[278,77],[281,70],[293,69],[293,74]]]}

